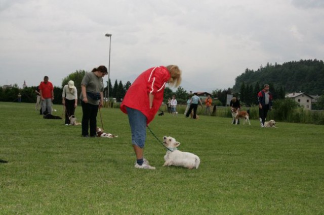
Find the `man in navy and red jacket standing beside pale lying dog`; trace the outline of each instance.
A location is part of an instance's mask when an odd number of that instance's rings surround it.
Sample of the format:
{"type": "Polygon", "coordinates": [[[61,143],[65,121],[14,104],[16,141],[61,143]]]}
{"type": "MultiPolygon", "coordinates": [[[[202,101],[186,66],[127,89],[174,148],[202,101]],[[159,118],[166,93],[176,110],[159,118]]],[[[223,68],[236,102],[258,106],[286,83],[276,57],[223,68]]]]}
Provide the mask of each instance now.
{"type": "Polygon", "coordinates": [[[267,118],[268,111],[272,109],[272,94],[269,91],[269,85],[265,84],[263,90],[258,93],[259,100],[259,120],[261,128],[267,118]]]}

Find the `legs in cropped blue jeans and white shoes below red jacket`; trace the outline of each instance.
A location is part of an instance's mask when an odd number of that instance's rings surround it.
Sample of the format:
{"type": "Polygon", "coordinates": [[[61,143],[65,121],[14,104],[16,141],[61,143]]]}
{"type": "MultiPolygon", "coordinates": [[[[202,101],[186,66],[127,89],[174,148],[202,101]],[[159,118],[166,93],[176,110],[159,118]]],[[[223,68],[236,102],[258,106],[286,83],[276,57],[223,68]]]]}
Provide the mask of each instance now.
{"type": "Polygon", "coordinates": [[[136,154],[135,168],[155,170],[143,156],[146,140],[146,117],[138,110],[127,108],[127,115],[132,131],[132,144],[136,154]]]}

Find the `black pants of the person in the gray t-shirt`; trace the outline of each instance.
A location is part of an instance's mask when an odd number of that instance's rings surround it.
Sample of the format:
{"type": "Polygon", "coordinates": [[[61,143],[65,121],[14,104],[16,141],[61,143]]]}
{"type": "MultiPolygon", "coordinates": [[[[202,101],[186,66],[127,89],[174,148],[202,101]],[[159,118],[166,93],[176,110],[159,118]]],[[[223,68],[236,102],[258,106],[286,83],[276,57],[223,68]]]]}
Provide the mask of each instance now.
{"type": "Polygon", "coordinates": [[[90,136],[96,136],[97,129],[97,114],[99,105],[81,102],[82,105],[82,135],[89,135],[89,125],[90,125],[90,136]]]}

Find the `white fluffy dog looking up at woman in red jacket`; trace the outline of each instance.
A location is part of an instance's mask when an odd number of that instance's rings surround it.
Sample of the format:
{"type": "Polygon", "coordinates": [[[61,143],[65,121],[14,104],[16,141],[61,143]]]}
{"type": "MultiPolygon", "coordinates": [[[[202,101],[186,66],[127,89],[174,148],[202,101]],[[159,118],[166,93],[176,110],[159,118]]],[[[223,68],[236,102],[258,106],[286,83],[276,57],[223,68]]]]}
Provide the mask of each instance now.
{"type": "Polygon", "coordinates": [[[200,159],[197,155],[189,152],[183,152],[177,149],[180,145],[173,137],[163,137],[163,144],[168,148],[164,156],[165,163],[163,166],[177,166],[188,169],[198,169],[200,159]]]}

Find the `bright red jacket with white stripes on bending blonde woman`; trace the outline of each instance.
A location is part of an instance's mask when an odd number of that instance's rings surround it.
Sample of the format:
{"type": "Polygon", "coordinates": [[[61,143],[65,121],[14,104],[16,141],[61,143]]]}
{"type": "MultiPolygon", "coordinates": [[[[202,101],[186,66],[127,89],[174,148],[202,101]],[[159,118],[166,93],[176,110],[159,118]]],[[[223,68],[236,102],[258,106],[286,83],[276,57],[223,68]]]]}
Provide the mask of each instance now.
{"type": "Polygon", "coordinates": [[[137,77],[121,102],[120,110],[127,114],[126,106],[143,113],[148,125],[155,117],[163,101],[164,88],[170,79],[170,72],[164,66],[153,67],[137,77]],[[153,106],[150,109],[148,94],[153,94],[153,106]]]}

